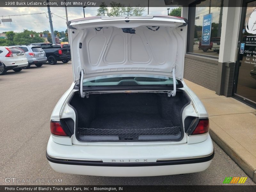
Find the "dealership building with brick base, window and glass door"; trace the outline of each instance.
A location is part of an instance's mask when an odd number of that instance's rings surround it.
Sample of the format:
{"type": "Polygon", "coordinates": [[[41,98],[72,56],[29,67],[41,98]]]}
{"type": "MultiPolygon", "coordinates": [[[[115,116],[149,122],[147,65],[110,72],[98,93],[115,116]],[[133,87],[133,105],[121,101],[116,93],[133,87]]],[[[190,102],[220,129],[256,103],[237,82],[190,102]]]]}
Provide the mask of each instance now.
{"type": "Polygon", "coordinates": [[[182,6],[181,16],[188,18],[184,78],[256,108],[256,1],[165,4],[182,6]]]}

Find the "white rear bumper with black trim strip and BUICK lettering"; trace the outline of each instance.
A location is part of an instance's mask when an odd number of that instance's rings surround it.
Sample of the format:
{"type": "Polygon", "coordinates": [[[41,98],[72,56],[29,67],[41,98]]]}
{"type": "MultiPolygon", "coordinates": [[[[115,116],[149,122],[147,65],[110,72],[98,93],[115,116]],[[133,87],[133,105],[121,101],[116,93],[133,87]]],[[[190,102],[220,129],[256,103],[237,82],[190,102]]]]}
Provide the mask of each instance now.
{"type": "Polygon", "coordinates": [[[51,167],[57,172],[120,177],[158,176],[200,172],[210,166],[213,156],[214,151],[210,136],[208,136],[207,140],[196,144],[183,143],[162,146],[103,147],[60,145],[53,142],[50,137],[46,152],[46,158],[51,167]],[[101,151],[102,148],[104,148],[105,152],[101,151]],[[146,151],[143,150],[143,148],[146,149],[146,151]],[[182,148],[184,150],[180,151],[182,148]],[[200,152],[198,152],[198,148],[201,148],[200,152]],[[160,149],[162,151],[159,152],[160,149]],[[116,151],[116,153],[113,151],[116,151]],[[166,154],[170,154],[168,157],[171,159],[162,158],[167,157],[163,154],[164,151],[166,154]],[[190,151],[190,154],[188,154],[187,151],[190,151]],[[201,156],[198,156],[199,153],[201,156]],[[173,156],[171,154],[173,154],[173,156]],[[112,163],[111,159],[116,159],[116,162],[112,163]],[[119,162],[121,159],[124,159],[124,163],[119,162]],[[131,162],[133,163],[125,163],[127,162],[127,159],[132,159],[131,162]],[[142,162],[134,162],[136,159],[142,159],[142,162]],[[144,159],[147,159],[148,161],[143,162],[144,159]]]}

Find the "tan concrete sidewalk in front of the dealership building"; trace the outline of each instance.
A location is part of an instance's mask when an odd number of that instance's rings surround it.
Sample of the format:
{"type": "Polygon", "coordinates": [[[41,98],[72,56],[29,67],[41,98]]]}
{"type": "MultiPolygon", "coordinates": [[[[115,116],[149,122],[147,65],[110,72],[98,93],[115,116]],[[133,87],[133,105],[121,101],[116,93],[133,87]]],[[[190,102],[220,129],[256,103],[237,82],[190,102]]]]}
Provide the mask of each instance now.
{"type": "Polygon", "coordinates": [[[256,110],[230,97],[184,80],[204,103],[210,135],[256,183],[256,110]]]}

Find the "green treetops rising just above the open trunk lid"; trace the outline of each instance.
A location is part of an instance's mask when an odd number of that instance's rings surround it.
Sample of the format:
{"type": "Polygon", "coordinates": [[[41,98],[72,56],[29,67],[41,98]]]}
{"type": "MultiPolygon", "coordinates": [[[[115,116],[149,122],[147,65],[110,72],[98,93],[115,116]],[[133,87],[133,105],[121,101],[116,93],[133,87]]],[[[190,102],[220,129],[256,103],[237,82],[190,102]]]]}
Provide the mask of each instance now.
{"type": "Polygon", "coordinates": [[[116,3],[112,1],[110,3],[110,9],[108,9],[107,5],[104,2],[101,2],[100,8],[98,9],[97,16],[112,16],[112,17],[120,17],[120,16],[141,16],[143,11],[145,10],[144,7],[140,7],[140,5],[136,7],[125,7],[124,4],[116,3]]]}

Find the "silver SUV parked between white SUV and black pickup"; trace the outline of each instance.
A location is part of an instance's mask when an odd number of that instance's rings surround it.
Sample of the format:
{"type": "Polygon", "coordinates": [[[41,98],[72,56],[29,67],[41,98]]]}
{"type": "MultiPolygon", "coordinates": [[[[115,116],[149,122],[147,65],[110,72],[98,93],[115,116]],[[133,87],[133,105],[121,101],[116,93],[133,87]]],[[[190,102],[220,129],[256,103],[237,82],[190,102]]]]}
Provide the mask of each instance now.
{"type": "Polygon", "coordinates": [[[29,68],[31,65],[36,65],[36,67],[41,67],[45,62],[47,62],[47,57],[44,50],[40,46],[36,45],[12,45],[19,47],[26,53],[28,59],[29,68]]]}

